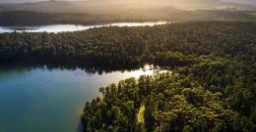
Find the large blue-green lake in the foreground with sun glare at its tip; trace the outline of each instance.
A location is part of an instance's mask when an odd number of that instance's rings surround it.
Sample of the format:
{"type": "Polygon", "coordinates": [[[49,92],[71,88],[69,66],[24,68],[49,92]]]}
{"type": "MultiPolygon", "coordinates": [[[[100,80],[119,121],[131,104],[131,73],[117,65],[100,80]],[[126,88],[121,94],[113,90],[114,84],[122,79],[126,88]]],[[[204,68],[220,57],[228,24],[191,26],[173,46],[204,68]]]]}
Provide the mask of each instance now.
{"type": "Polygon", "coordinates": [[[145,66],[98,74],[46,66],[1,69],[0,132],[76,132],[84,104],[100,96],[99,87],[154,70],[145,66]]]}

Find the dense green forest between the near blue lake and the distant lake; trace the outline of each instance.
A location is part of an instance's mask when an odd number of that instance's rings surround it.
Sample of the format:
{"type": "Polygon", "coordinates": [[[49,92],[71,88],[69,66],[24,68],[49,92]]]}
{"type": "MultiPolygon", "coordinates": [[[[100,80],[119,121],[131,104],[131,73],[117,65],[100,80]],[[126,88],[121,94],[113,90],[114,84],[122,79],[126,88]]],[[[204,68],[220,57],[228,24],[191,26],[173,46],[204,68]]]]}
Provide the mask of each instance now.
{"type": "Polygon", "coordinates": [[[100,88],[84,131],[256,131],[256,23],[0,34],[0,64],[174,67],[100,88]]]}

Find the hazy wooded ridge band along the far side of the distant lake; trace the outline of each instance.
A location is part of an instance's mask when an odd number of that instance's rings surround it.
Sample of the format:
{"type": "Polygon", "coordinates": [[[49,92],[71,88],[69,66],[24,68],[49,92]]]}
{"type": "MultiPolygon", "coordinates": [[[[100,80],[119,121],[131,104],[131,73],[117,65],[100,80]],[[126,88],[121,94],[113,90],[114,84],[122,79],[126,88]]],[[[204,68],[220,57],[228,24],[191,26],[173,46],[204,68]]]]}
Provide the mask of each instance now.
{"type": "MultiPolygon", "coordinates": [[[[47,9],[47,7],[42,8],[47,9]]],[[[83,8],[86,9],[86,8],[83,8]]],[[[1,10],[1,9],[0,9],[1,10]]],[[[34,12],[27,9],[21,11],[0,11],[0,25],[45,25],[45,24],[102,24],[111,22],[256,22],[255,11],[224,11],[224,10],[195,10],[185,11],[173,7],[157,9],[116,9],[115,7],[102,10],[53,13],[34,12]],[[98,13],[99,12],[99,13],[98,13]]],[[[64,11],[66,11],[65,9],[64,11]]],[[[63,10],[62,10],[63,11],[63,10]]]]}

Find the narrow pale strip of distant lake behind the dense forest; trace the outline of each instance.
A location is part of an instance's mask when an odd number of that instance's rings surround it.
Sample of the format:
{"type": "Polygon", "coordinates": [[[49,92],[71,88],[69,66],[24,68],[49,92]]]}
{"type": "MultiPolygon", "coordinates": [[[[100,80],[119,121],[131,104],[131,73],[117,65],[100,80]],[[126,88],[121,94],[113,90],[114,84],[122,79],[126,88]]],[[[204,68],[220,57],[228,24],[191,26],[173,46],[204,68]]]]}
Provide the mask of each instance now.
{"type": "Polygon", "coordinates": [[[94,27],[101,26],[153,26],[158,24],[164,24],[167,22],[114,22],[100,25],[77,25],[77,24],[52,24],[52,25],[40,25],[40,26],[0,26],[0,33],[4,32],[67,32],[67,31],[79,31],[87,30],[94,27]]]}

